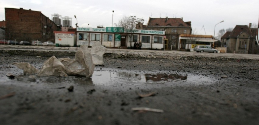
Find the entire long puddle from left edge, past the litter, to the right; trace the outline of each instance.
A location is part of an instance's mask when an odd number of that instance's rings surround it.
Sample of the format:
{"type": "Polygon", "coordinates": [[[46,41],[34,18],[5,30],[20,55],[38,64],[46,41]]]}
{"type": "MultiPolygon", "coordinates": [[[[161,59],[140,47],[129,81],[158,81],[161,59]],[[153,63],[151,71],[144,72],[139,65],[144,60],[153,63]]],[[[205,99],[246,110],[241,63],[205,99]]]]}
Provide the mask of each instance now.
{"type": "Polygon", "coordinates": [[[179,74],[155,71],[129,71],[102,68],[95,71],[91,78],[68,76],[68,77],[29,77],[18,75],[16,79],[9,79],[5,74],[0,72],[0,82],[32,82],[32,83],[46,83],[46,84],[70,84],[76,83],[81,85],[102,85],[102,86],[141,86],[145,84],[167,84],[167,85],[200,85],[215,83],[213,79],[206,76],[195,76],[192,74],[179,74]]]}

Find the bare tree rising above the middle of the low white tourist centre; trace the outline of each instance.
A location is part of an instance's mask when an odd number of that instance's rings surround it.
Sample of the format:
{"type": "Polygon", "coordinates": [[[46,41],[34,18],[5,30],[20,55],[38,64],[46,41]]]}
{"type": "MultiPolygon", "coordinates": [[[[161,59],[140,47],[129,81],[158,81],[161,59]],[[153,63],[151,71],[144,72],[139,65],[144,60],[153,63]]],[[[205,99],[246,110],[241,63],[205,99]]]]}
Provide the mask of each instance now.
{"type": "Polygon", "coordinates": [[[126,30],[126,33],[130,37],[130,47],[132,42],[132,36],[133,36],[134,30],[136,29],[136,24],[139,22],[143,23],[144,19],[137,18],[136,16],[127,17],[126,15],[124,15],[123,18],[119,20],[119,27],[124,27],[124,30],[126,30]]]}

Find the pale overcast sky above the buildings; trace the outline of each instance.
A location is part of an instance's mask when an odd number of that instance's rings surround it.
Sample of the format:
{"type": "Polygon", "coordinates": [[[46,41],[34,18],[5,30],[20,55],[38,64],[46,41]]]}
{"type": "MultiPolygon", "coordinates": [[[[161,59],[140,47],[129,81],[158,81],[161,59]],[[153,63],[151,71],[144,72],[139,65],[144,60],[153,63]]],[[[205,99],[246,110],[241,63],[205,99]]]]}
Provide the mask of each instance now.
{"type": "Polygon", "coordinates": [[[258,24],[258,0],[0,0],[0,20],[5,20],[5,8],[23,8],[51,15],[69,16],[75,27],[96,28],[98,25],[115,26],[124,16],[135,15],[145,20],[151,18],[183,18],[192,22],[192,29],[200,35],[215,36],[220,29],[236,25],[258,24]],[[112,23],[112,10],[113,23],[112,23]],[[204,26],[204,28],[202,28],[204,26]],[[205,30],[204,30],[205,29],[205,30]]]}

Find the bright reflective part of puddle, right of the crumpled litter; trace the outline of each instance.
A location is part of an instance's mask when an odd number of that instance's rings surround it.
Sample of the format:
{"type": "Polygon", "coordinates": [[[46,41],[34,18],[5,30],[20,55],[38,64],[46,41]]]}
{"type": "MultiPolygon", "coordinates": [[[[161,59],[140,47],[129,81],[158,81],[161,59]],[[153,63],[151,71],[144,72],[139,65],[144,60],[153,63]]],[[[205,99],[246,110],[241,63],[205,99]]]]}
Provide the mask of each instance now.
{"type": "Polygon", "coordinates": [[[181,75],[177,73],[129,73],[113,70],[95,70],[92,81],[97,85],[111,85],[113,83],[143,84],[143,83],[176,83],[192,84],[212,83],[212,79],[203,76],[181,75]]]}

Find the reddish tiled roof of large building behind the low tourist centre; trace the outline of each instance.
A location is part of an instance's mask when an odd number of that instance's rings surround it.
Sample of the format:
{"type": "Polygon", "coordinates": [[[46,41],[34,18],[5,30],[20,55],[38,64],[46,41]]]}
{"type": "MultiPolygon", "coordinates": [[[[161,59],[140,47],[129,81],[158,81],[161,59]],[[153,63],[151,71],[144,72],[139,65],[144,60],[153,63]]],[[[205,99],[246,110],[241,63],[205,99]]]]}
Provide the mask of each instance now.
{"type": "Polygon", "coordinates": [[[190,27],[181,18],[150,18],[147,26],[190,27]]]}

